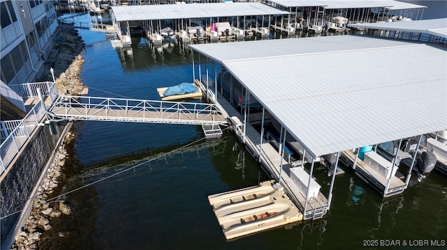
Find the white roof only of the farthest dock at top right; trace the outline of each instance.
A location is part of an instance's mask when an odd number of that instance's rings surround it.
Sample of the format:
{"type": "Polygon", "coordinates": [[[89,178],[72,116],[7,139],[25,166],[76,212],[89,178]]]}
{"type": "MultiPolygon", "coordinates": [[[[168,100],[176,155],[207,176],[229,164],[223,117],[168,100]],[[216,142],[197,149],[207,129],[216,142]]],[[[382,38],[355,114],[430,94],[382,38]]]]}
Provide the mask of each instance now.
{"type": "Polygon", "coordinates": [[[277,3],[284,7],[307,7],[307,6],[324,6],[327,9],[333,8],[379,8],[387,7],[390,10],[405,10],[412,8],[427,8],[427,6],[420,6],[413,3],[404,3],[393,0],[270,0],[272,3],[277,3]]]}

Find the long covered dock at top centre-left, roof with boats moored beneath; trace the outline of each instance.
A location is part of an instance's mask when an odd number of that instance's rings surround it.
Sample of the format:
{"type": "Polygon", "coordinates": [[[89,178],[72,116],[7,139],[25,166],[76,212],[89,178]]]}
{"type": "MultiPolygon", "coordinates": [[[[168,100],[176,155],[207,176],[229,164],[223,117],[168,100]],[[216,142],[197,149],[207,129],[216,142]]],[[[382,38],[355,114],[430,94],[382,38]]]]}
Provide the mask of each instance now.
{"type": "MultiPolygon", "coordinates": [[[[147,33],[150,38],[152,34],[161,35],[162,29],[170,28],[177,33],[177,38],[182,42],[188,42],[188,40],[198,42],[205,40],[207,36],[214,41],[215,34],[208,33],[205,36],[205,31],[208,29],[208,32],[213,31],[212,26],[217,26],[217,24],[228,24],[228,31],[231,31],[233,27],[237,29],[237,32],[244,31],[246,24],[241,21],[240,17],[244,17],[244,19],[245,17],[264,16],[282,18],[289,14],[287,11],[278,10],[263,3],[157,4],[111,6],[111,8],[113,23],[120,39],[131,36],[135,29],[144,31],[143,33],[147,33]],[[200,36],[196,32],[198,30],[196,28],[201,29],[200,36]],[[186,31],[186,33],[182,31],[186,31]],[[179,36],[179,33],[182,34],[179,36]]],[[[224,31],[218,32],[218,40],[235,40],[244,37],[243,32],[236,32],[235,35],[228,32],[225,35],[224,31]]]]}

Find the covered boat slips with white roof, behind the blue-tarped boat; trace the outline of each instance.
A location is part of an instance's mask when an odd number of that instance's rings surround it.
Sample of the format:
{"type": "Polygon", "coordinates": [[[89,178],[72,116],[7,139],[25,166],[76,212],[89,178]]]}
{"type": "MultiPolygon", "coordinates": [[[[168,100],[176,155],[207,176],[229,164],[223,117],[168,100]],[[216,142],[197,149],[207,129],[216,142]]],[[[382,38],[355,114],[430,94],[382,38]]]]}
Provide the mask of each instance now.
{"type": "MultiPolygon", "coordinates": [[[[145,33],[160,33],[169,26],[178,37],[187,36],[189,27],[201,26],[210,28],[212,24],[229,22],[232,27],[248,29],[253,25],[253,17],[270,22],[270,17],[288,15],[284,10],[277,10],[263,3],[191,3],[191,4],[162,4],[144,6],[113,6],[112,21],[121,36],[130,36],[130,25],[142,26],[145,33]]],[[[268,26],[270,24],[266,24],[268,26]]],[[[193,29],[196,33],[197,29],[193,29]]],[[[203,34],[202,34],[203,35],[203,34]]],[[[149,36],[149,35],[148,35],[149,36]]],[[[186,38],[185,38],[186,40],[186,38]]]]}

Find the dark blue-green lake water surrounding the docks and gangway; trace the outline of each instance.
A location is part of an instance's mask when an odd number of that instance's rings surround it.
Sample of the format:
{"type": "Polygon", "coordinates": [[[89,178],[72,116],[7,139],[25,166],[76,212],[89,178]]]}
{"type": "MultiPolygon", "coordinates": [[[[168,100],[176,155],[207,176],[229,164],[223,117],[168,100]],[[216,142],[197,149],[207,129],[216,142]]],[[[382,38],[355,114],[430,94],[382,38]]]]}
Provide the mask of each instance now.
{"type": "MultiPolygon", "coordinates": [[[[430,1],[425,17],[433,6],[434,17],[446,17],[445,3],[430,1]],[[444,16],[436,16],[439,8],[444,16]]],[[[102,33],[80,34],[87,43],[80,76],[91,96],[158,100],[157,87],[192,80],[191,54],[177,45],[159,53],[133,40],[129,53],[113,49],[102,33]]],[[[74,130],[61,193],[134,168],[66,195],[75,212],[52,220],[41,249],[371,249],[397,240],[406,247],[392,249],[433,249],[424,240],[447,240],[444,176],[413,176],[402,196],[383,200],[345,168],[323,219],[228,242],[207,196],[268,180],[232,132],[207,140],[191,125],[91,121],[74,130]]],[[[324,169],[314,173],[327,196],[330,177],[324,169]]]]}

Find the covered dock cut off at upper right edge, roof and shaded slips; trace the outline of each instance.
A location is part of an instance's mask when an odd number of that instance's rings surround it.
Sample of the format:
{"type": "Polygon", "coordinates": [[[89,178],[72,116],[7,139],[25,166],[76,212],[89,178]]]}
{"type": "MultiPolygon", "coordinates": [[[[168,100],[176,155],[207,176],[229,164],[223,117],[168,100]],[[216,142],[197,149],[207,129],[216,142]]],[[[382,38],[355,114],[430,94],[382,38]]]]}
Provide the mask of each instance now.
{"type": "Polygon", "coordinates": [[[379,31],[379,36],[387,36],[390,38],[439,43],[445,43],[447,41],[447,18],[427,19],[411,22],[376,22],[372,24],[356,23],[348,24],[348,26],[356,29],[376,30],[379,31]]]}

